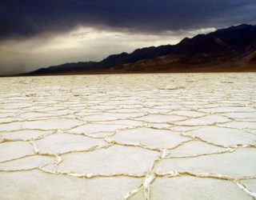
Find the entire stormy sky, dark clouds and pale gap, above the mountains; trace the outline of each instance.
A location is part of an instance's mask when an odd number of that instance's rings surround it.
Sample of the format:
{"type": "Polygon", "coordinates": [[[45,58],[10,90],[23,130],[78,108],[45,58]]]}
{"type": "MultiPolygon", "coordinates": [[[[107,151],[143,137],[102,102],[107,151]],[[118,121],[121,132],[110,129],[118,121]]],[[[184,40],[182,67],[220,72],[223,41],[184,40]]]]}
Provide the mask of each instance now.
{"type": "Polygon", "coordinates": [[[256,24],[256,0],[0,0],[0,75],[256,24]]]}

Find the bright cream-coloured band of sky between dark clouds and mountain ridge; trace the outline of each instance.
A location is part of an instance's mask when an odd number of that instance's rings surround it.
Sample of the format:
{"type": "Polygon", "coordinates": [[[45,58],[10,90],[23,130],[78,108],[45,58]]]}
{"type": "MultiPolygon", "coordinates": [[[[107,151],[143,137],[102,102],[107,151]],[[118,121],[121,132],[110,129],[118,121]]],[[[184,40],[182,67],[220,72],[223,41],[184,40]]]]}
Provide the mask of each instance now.
{"type": "Polygon", "coordinates": [[[79,26],[63,34],[6,40],[0,43],[0,74],[17,74],[66,62],[100,61],[110,54],[131,53],[146,46],[174,45],[182,38],[214,30],[209,27],[149,34],[79,26]]]}

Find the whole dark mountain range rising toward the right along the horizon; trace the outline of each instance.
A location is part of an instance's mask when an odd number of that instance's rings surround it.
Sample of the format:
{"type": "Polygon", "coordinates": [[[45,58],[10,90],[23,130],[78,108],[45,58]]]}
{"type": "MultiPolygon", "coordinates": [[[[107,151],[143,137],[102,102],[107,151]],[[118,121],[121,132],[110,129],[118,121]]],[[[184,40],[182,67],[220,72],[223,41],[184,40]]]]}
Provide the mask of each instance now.
{"type": "Polygon", "coordinates": [[[221,71],[256,71],[256,26],[230,26],[184,38],[177,45],[150,46],[101,62],[72,62],[22,75],[221,71]]]}

